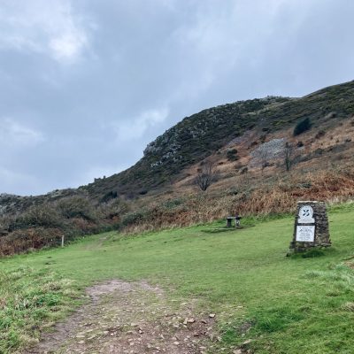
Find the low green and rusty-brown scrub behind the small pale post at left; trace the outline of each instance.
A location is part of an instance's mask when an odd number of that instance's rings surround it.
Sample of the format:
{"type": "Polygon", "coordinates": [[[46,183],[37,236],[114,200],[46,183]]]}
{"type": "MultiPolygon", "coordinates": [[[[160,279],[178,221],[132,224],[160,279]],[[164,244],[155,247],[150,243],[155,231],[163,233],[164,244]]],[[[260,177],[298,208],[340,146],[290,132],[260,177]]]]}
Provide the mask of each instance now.
{"type": "Polygon", "coordinates": [[[118,228],[127,212],[127,203],[117,198],[100,207],[84,196],[29,206],[17,217],[0,218],[0,257],[58,246],[62,235],[70,242],[79,235],[118,228]]]}

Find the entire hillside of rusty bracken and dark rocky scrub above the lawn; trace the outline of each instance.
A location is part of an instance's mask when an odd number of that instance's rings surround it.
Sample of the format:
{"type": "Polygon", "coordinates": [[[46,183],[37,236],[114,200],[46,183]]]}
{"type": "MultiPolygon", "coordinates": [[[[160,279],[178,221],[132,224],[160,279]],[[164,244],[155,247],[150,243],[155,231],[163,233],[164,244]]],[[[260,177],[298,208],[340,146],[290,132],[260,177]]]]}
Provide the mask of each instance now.
{"type": "Polygon", "coordinates": [[[126,171],[79,189],[2,194],[0,255],[55,245],[60,235],[181,227],[236,211],[291,212],[302,198],[337,203],[353,196],[350,81],[301,98],[267,96],[206,109],[150,142],[126,171]],[[207,165],[212,185],[202,192],[196,176],[207,165]]]}

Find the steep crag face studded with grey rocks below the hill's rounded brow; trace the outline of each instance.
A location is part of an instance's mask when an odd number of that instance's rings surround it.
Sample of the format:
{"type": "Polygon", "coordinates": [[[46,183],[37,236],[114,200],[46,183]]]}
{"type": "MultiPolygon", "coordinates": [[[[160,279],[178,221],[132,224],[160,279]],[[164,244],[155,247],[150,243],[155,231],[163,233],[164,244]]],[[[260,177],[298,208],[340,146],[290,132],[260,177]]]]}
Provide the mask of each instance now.
{"type": "Polygon", "coordinates": [[[189,165],[254,127],[257,112],[264,113],[268,106],[290,101],[289,97],[268,96],[222,104],[193,114],[150,142],[143,151],[144,159],[150,162],[150,169],[171,163],[189,165]]]}

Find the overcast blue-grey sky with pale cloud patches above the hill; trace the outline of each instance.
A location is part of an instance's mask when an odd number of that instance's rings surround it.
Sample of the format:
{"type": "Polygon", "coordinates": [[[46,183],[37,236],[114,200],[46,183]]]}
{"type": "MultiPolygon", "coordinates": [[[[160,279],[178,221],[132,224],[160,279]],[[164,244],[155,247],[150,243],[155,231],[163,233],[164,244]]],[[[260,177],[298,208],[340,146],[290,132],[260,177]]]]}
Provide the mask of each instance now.
{"type": "Polygon", "coordinates": [[[352,0],[0,0],[0,193],[126,169],[185,116],[354,79],[352,0]]]}

